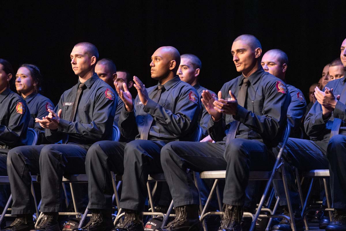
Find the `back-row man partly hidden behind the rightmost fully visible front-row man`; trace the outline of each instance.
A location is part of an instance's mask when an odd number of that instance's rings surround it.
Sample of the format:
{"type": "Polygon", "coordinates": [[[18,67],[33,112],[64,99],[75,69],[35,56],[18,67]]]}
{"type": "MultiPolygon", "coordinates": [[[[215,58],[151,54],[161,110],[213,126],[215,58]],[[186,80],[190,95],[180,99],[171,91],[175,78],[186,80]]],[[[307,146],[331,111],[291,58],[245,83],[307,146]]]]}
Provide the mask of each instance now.
{"type": "MultiPolygon", "coordinates": [[[[270,74],[280,78],[282,81],[286,83],[286,71],[288,68],[288,57],[285,52],[279,49],[268,50],[262,57],[261,65],[264,71],[269,72],[270,74]]],[[[306,110],[306,101],[303,93],[297,89],[296,87],[286,84],[288,91],[291,95],[291,103],[287,110],[287,119],[291,124],[291,134],[292,138],[301,138],[302,136],[302,119],[306,110]]],[[[274,153],[278,153],[277,149],[274,149],[274,153]]],[[[294,181],[294,176],[292,174],[288,174],[291,168],[287,168],[286,175],[291,177],[294,181]]],[[[291,181],[289,181],[291,182],[291,181]]],[[[284,214],[288,214],[287,201],[285,192],[283,190],[282,180],[273,181],[275,194],[280,196],[280,206],[283,206],[284,214]]],[[[295,184],[289,184],[290,198],[293,207],[293,211],[295,213],[295,225],[297,229],[303,228],[303,220],[300,216],[299,210],[299,195],[298,191],[295,188],[295,184]]],[[[255,192],[255,191],[251,191],[255,192]]],[[[283,219],[279,225],[274,225],[273,230],[290,230],[290,223],[288,220],[283,219]],[[284,228],[283,228],[284,227],[284,228]]]]}

